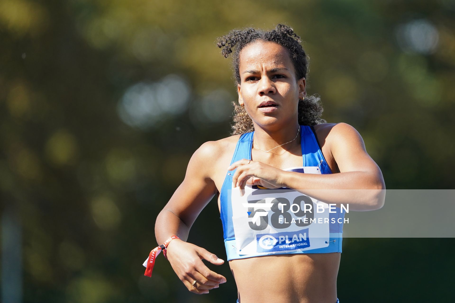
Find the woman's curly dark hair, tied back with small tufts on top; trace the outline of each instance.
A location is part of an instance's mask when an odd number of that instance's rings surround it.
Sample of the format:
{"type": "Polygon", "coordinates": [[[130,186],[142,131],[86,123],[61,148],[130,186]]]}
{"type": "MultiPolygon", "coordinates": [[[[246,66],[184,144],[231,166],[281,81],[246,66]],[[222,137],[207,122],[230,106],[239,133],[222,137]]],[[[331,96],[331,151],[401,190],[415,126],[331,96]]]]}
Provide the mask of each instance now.
{"type": "MultiPolygon", "coordinates": [[[[290,58],[293,62],[296,79],[307,77],[309,57],[305,54],[300,42],[302,40],[296,35],[288,25],[278,24],[275,29],[265,31],[254,28],[244,28],[243,30],[231,30],[227,35],[217,38],[217,46],[222,48],[221,54],[227,58],[232,53],[233,56],[233,78],[235,85],[240,84],[239,63],[240,51],[248,44],[254,41],[269,41],[275,42],[288,49],[290,58]]],[[[234,106],[234,116],[232,125],[233,132],[231,135],[244,134],[254,130],[253,120],[248,115],[247,111],[238,104],[237,101],[232,102],[234,106]]],[[[307,96],[305,99],[298,101],[298,124],[300,125],[316,125],[326,123],[321,119],[324,111],[320,102],[319,96],[307,96]]]]}

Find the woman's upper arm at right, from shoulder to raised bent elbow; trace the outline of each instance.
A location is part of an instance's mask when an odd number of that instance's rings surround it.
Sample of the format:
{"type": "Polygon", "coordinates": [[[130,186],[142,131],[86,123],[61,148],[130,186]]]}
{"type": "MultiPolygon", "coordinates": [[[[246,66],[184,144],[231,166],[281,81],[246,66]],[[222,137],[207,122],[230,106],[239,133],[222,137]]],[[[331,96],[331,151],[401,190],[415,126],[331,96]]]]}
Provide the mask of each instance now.
{"type": "Polygon", "coordinates": [[[340,173],[362,171],[369,173],[378,188],[385,189],[379,166],[369,156],[359,132],[347,123],[337,123],[329,133],[330,149],[340,173]]]}

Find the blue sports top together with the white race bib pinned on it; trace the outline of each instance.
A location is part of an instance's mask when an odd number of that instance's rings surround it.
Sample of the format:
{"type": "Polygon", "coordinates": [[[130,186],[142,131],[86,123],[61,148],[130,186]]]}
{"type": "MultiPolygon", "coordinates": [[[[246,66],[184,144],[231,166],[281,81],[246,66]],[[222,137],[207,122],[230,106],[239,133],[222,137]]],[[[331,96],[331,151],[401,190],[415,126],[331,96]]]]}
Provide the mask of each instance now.
{"type": "MultiPolygon", "coordinates": [[[[231,164],[251,159],[253,134],[240,136],[231,164]]],[[[285,170],[332,174],[313,129],[300,125],[300,138],[303,166],[285,170]]],[[[275,254],[341,253],[344,212],[339,208],[329,212],[328,204],[286,187],[247,185],[243,196],[238,189],[226,174],[220,192],[220,218],[228,261],[275,254]],[[323,205],[325,211],[320,214],[316,210],[322,210],[323,205]],[[304,209],[310,210],[304,213],[304,209]]]]}

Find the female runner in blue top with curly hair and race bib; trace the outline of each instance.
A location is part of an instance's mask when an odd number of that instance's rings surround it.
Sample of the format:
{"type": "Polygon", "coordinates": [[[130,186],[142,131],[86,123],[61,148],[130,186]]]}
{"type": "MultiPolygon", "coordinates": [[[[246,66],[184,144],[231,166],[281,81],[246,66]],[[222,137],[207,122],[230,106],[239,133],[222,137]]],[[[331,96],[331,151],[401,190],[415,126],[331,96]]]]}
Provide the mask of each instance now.
{"type": "MultiPolygon", "coordinates": [[[[319,98],[307,97],[308,58],[300,42],[287,25],[270,31],[232,30],[218,39],[224,57],[233,53],[238,92],[233,135],[208,141],[196,150],[185,179],[155,225],[159,244],[172,235],[178,237],[163,249],[192,293],[208,293],[226,282],[202,259],[215,265],[224,261],[186,242],[192,224],[214,195],[238,303],[339,302],[336,283],[343,222],[330,223],[324,231],[325,241],[312,238],[313,230],[324,228],[290,224],[283,221],[284,214],[281,219],[274,217],[273,212],[281,212],[283,207],[289,218],[296,215],[288,211],[284,194],[298,192],[300,199],[306,197],[304,193],[336,204],[337,212],[330,214],[330,219],[343,219],[339,211],[342,204],[349,203],[349,210],[358,211],[379,209],[384,204],[382,173],[367,154],[360,134],[346,123],[326,123],[320,118],[323,109],[319,98]],[[311,169],[309,174],[307,169],[311,169]],[[241,199],[246,187],[275,199],[262,204],[262,209],[251,207],[236,213],[241,203],[235,199],[241,199]],[[359,189],[363,191],[359,193],[359,189]],[[242,194],[234,199],[235,190],[242,194]],[[281,208],[277,201],[282,202],[281,208]],[[244,242],[248,244],[245,247],[238,242],[243,232],[254,238],[244,242]]],[[[253,203],[258,201],[266,199],[253,203]]],[[[298,203],[312,204],[308,200],[298,203]]]]}

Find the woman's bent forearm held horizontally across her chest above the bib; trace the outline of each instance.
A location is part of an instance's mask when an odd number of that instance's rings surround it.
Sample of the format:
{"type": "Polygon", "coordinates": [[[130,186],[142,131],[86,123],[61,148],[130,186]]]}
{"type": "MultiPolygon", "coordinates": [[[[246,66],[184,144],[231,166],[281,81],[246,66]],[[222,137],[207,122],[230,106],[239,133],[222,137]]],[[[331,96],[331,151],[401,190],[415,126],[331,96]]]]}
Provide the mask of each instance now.
{"type": "Polygon", "coordinates": [[[282,178],[284,187],[337,207],[349,204],[349,210],[365,211],[379,209],[384,204],[384,183],[370,173],[302,174],[285,171],[282,178]]]}

